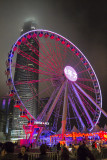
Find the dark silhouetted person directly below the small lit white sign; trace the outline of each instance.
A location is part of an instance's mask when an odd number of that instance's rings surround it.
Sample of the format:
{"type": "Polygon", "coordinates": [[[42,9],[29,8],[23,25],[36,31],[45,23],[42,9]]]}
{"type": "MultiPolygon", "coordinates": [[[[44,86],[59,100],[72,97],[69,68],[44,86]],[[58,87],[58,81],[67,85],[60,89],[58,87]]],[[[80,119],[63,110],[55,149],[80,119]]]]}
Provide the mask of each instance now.
{"type": "Polygon", "coordinates": [[[42,144],[40,146],[40,156],[39,158],[36,158],[36,160],[50,160],[50,158],[46,154],[47,147],[45,144],[42,144]]]}

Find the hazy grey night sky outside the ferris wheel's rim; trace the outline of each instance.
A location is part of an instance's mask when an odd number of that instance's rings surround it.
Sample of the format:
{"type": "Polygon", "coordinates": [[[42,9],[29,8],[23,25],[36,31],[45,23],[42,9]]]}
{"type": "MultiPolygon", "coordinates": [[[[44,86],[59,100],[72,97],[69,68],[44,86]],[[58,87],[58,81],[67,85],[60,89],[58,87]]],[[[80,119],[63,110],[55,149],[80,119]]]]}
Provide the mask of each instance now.
{"type": "MultiPolygon", "coordinates": [[[[5,61],[24,21],[54,31],[88,58],[99,79],[107,112],[107,2],[89,0],[0,0],[0,97],[7,95],[5,61]]],[[[101,116],[99,125],[107,124],[101,116]]]]}

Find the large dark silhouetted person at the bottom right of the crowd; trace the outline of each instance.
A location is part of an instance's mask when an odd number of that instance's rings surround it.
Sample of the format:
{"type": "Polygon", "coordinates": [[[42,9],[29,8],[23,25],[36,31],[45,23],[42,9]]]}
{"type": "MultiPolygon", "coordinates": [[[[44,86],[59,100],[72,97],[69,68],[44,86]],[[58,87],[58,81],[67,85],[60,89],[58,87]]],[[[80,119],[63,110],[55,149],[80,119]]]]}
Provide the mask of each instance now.
{"type": "Polygon", "coordinates": [[[77,149],[77,160],[87,160],[87,159],[95,160],[95,157],[84,143],[80,145],[79,148],[77,149]]]}

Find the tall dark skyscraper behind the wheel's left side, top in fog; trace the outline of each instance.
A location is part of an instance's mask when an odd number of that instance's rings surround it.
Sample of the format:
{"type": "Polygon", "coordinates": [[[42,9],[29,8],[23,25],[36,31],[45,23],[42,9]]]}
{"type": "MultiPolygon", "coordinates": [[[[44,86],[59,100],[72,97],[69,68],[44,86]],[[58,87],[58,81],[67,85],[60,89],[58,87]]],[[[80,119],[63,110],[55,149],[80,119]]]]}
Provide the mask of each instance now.
{"type": "MultiPolygon", "coordinates": [[[[25,32],[35,29],[36,25],[32,21],[27,21],[24,23],[23,28],[21,30],[21,35],[25,32]]],[[[27,39],[28,43],[33,45],[37,50],[39,50],[38,44],[34,41],[33,38],[27,39]]],[[[39,61],[39,57],[32,52],[32,50],[27,47],[26,44],[21,43],[19,46],[19,50],[26,52],[28,55],[32,56],[33,58],[39,61]]],[[[30,60],[22,57],[20,54],[17,54],[16,58],[16,65],[20,64],[26,67],[32,67],[38,69],[37,64],[34,64],[30,60]]],[[[14,82],[18,81],[32,81],[38,79],[38,73],[30,72],[28,70],[22,70],[21,68],[15,68],[14,74],[14,82]]],[[[38,110],[38,98],[33,98],[38,93],[38,84],[20,84],[15,86],[17,93],[22,101],[25,104],[27,110],[31,113],[33,117],[37,117],[37,110],[38,110]],[[32,87],[33,85],[33,87],[32,87]],[[31,89],[33,88],[33,89],[31,89]],[[25,103],[26,102],[26,103],[25,103]]],[[[20,111],[17,108],[14,108],[14,118],[13,118],[13,130],[21,130],[22,125],[27,124],[27,120],[24,118],[20,118],[20,111]]]]}

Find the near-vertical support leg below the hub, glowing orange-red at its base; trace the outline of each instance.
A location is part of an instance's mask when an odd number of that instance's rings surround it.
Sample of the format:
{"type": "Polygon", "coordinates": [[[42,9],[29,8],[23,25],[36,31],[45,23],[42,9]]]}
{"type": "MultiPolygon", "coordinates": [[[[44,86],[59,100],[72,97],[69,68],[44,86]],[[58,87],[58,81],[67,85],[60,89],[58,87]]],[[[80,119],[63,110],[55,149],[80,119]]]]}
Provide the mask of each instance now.
{"type": "Polygon", "coordinates": [[[62,140],[64,140],[66,119],[67,119],[67,104],[68,104],[68,81],[66,81],[64,104],[63,104],[63,115],[62,115],[62,140]]]}

